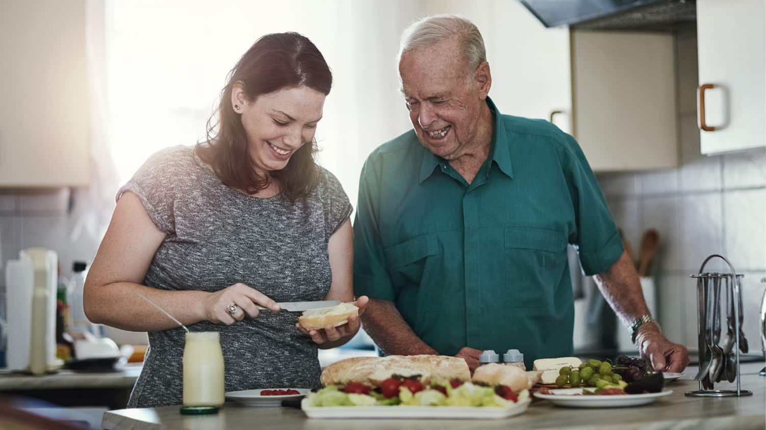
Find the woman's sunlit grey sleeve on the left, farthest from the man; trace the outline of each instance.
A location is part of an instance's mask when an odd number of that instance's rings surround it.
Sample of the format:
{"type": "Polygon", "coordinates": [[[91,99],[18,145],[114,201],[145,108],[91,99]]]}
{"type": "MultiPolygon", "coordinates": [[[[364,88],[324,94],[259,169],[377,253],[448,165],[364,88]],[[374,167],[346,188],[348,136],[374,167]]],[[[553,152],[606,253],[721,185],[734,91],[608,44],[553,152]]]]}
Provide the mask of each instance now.
{"type": "Polygon", "coordinates": [[[123,192],[133,192],[141,200],[146,214],[165,234],[175,233],[173,208],[179,190],[179,179],[188,170],[184,168],[191,148],[171,147],[152,154],[130,180],[117,191],[116,200],[123,192]]]}

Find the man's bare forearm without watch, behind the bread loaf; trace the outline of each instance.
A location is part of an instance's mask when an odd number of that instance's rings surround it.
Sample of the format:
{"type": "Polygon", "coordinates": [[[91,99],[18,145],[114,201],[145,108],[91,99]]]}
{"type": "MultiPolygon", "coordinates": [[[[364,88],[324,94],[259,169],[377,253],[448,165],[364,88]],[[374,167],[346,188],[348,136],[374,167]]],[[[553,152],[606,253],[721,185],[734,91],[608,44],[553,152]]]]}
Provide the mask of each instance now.
{"type": "Polygon", "coordinates": [[[362,325],[386,355],[437,354],[415,335],[394,303],[388,300],[371,299],[362,315],[362,325]]]}

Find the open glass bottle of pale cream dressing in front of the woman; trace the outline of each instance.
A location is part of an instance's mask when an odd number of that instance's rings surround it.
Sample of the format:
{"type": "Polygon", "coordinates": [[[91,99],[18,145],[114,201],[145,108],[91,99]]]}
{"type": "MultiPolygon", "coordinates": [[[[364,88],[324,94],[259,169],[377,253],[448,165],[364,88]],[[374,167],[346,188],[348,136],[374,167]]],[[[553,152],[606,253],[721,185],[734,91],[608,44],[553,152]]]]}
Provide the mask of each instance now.
{"type": "MultiPolygon", "coordinates": [[[[224,404],[224,354],[218,331],[188,331],[183,357],[184,407],[218,412],[224,404]]],[[[204,412],[201,412],[204,413],[204,412]]]]}

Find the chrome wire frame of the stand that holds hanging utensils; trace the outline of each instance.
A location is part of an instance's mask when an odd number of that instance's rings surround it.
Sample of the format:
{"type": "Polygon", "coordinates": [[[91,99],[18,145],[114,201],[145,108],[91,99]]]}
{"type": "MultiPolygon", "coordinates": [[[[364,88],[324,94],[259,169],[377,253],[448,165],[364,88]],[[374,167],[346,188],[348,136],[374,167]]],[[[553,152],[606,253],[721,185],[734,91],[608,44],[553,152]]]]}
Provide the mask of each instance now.
{"type": "MultiPolygon", "coordinates": [[[[749,391],[749,390],[741,390],[741,386],[740,386],[741,375],[740,375],[740,368],[739,368],[739,354],[740,354],[740,350],[739,350],[739,332],[740,332],[739,312],[741,312],[741,309],[738,306],[738,297],[741,294],[741,290],[740,290],[740,285],[739,285],[739,281],[738,280],[741,277],[744,277],[745,275],[737,273],[736,270],[734,269],[734,266],[732,266],[732,263],[726,257],[723,257],[722,255],[719,255],[719,254],[712,254],[709,257],[705,258],[705,261],[702,262],[702,266],[699,267],[699,273],[690,275],[690,277],[692,277],[692,278],[702,278],[702,279],[712,279],[712,278],[718,278],[718,277],[722,277],[722,276],[731,276],[732,277],[732,288],[728,289],[728,291],[726,291],[725,294],[730,294],[729,300],[731,300],[732,307],[734,309],[733,318],[734,318],[734,328],[735,328],[735,332],[734,332],[735,343],[734,343],[733,349],[735,350],[736,363],[737,363],[737,377],[736,377],[737,390],[712,390],[712,388],[710,390],[708,390],[708,389],[705,389],[705,387],[702,385],[702,380],[699,380],[699,390],[687,391],[686,392],[686,396],[693,396],[693,397],[732,397],[732,396],[737,396],[737,397],[741,397],[741,396],[752,396],[753,395],[753,393],[751,391],[749,391]],[[726,264],[728,265],[728,268],[730,270],[732,270],[731,273],[708,273],[708,272],[705,272],[704,271],[705,270],[705,264],[707,264],[709,262],[709,260],[712,260],[713,258],[720,258],[721,260],[724,260],[726,262],[726,264]]],[[[713,300],[714,299],[712,297],[713,296],[713,288],[711,287],[710,283],[704,283],[703,284],[703,289],[707,289],[707,291],[703,292],[703,294],[705,294],[707,299],[708,300],[713,300]]],[[[699,290],[698,290],[697,294],[698,294],[698,296],[697,296],[697,303],[699,304],[700,303],[699,290]]],[[[719,300],[718,300],[719,303],[721,302],[720,301],[720,296],[721,296],[721,292],[720,292],[720,289],[719,289],[719,300]]],[[[707,309],[708,308],[708,301],[705,300],[704,303],[705,303],[705,309],[707,309]]],[[[719,306],[719,309],[714,309],[714,312],[720,312],[720,306],[719,306]]],[[[697,325],[697,327],[698,327],[698,331],[699,331],[699,327],[703,326],[702,324],[699,324],[699,319],[702,318],[702,315],[706,315],[706,312],[704,311],[704,309],[697,309],[697,318],[698,318],[698,325],[697,325]]],[[[705,322],[704,327],[705,327],[704,330],[707,331],[707,324],[706,324],[706,322],[705,322]]],[[[711,336],[712,337],[712,333],[707,333],[707,332],[705,332],[705,333],[700,332],[700,333],[698,333],[698,335],[705,335],[705,338],[707,338],[707,336],[711,336]]],[[[717,342],[716,342],[716,344],[717,344],[717,342]]],[[[702,347],[702,345],[700,345],[700,346],[702,347]]],[[[703,349],[706,351],[706,348],[708,348],[707,345],[705,345],[704,348],[700,348],[700,351],[699,351],[699,369],[700,369],[700,371],[702,371],[703,362],[705,361],[705,360],[702,359],[702,357],[705,357],[705,354],[703,354],[703,349]]],[[[725,360],[724,360],[724,362],[725,362],[725,360]]],[[[724,364],[722,364],[722,365],[724,365],[724,364]]],[[[702,377],[702,379],[704,379],[704,378],[705,377],[702,377]]],[[[712,382],[711,382],[711,386],[712,386],[712,382]]]]}

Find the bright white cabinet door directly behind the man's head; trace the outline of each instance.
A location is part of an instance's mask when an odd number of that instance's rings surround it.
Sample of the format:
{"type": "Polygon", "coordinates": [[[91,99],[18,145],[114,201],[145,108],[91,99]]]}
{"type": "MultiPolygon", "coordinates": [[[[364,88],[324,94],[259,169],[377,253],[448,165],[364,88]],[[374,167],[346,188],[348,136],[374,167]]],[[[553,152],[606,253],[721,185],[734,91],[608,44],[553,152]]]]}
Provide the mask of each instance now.
{"type": "Polygon", "coordinates": [[[545,28],[519,2],[492,2],[492,33],[485,36],[492,89],[500,112],[544,118],[571,133],[569,31],[545,28]]]}

